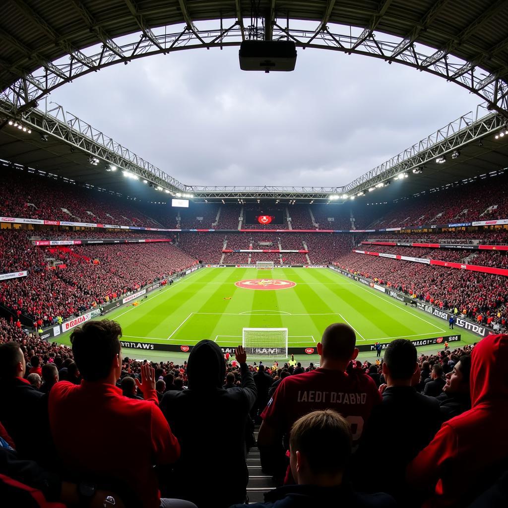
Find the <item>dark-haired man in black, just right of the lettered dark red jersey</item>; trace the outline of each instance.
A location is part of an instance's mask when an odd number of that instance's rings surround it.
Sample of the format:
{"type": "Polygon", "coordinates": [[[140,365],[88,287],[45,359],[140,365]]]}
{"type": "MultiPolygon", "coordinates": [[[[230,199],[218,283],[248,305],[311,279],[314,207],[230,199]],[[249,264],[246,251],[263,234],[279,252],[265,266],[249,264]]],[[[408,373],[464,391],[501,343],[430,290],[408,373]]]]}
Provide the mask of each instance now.
{"type": "MultiPolygon", "coordinates": [[[[410,340],[393,340],[385,351],[383,374],[387,387],[381,404],[374,407],[355,455],[355,483],[359,490],[383,491],[410,506],[411,496],[404,489],[407,464],[423,450],[440,426],[439,403],[418,393],[420,369],[416,347],[410,340]],[[383,439],[383,471],[372,461],[372,451],[383,439]]],[[[385,385],[380,387],[380,390],[385,385]]]]}

